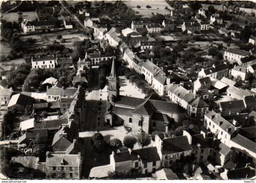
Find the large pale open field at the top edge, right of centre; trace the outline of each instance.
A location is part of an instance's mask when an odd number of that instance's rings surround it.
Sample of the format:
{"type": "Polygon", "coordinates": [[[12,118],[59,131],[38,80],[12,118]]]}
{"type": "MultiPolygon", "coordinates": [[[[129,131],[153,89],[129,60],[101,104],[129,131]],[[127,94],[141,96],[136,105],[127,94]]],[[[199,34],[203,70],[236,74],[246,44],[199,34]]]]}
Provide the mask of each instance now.
{"type": "Polygon", "coordinates": [[[169,14],[169,10],[166,10],[165,7],[172,10],[172,7],[167,4],[166,1],[123,1],[127,7],[130,7],[135,12],[139,12],[138,15],[143,17],[152,16],[152,13],[160,13],[162,15],[169,14]],[[140,5],[140,9],[137,9],[137,5],[140,5]],[[147,9],[146,5],[150,5],[151,9],[147,9]]]}

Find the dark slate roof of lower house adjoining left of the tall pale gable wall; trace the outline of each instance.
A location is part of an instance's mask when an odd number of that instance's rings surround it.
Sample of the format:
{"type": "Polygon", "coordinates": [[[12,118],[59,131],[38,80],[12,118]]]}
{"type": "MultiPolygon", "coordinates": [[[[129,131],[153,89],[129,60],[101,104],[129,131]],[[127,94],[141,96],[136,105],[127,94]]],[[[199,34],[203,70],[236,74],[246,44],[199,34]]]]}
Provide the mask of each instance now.
{"type": "Polygon", "coordinates": [[[156,147],[142,148],[133,150],[132,154],[139,155],[143,163],[160,161],[159,154],[156,147]]]}

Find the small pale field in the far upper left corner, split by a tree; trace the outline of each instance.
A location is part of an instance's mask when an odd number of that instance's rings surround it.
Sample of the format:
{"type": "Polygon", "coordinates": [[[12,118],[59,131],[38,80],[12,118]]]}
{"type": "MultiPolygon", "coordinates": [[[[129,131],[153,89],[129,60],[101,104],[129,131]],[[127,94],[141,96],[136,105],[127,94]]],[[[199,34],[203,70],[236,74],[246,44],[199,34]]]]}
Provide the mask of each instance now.
{"type": "MultiPolygon", "coordinates": [[[[23,14],[21,15],[23,19],[30,19],[30,20],[35,20],[37,19],[37,16],[35,15],[35,12],[22,12],[23,14]]],[[[5,14],[2,19],[10,22],[18,22],[18,12],[12,12],[12,13],[7,13],[5,14]]]]}

